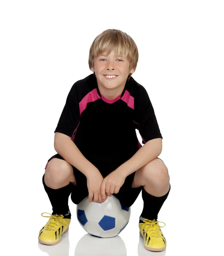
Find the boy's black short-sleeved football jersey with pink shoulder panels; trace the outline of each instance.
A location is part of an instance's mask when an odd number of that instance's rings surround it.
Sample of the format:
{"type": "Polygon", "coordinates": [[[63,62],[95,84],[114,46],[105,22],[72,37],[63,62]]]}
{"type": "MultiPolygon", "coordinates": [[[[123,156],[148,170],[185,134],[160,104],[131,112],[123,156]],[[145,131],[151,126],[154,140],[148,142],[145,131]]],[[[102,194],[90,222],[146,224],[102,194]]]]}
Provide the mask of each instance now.
{"type": "Polygon", "coordinates": [[[130,77],[121,95],[107,99],[91,74],[71,87],[54,132],[71,137],[89,161],[125,162],[141,147],[136,129],[143,144],[162,138],[145,88],[130,77]]]}

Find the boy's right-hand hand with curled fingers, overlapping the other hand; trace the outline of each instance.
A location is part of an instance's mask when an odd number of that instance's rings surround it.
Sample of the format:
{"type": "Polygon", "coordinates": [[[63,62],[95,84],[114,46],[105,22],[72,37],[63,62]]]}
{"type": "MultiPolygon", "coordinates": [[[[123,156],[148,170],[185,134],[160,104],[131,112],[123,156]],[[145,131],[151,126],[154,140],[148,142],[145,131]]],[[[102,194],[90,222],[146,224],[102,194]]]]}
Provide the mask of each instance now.
{"type": "Polygon", "coordinates": [[[117,194],[121,186],[125,183],[126,176],[119,171],[111,172],[107,177],[104,178],[100,186],[100,192],[102,197],[106,195],[110,196],[115,193],[117,194]]]}

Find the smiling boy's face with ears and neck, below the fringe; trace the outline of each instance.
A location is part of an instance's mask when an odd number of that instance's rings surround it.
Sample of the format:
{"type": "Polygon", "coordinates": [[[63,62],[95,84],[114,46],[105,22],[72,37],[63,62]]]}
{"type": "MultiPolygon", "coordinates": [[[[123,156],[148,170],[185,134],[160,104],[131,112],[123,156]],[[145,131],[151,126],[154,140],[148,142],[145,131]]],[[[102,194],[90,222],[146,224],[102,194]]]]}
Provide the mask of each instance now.
{"type": "Polygon", "coordinates": [[[94,67],[91,71],[96,74],[99,91],[103,96],[116,97],[122,93],[128,75],[135,71],[130,70],[129,66],[128,59],[124,56],[115,56],[114,51],[109,55],[103,52],[94,59],[94,67]],[[116,75],[116,77],[108,79],[105,75],[116,75]]]}

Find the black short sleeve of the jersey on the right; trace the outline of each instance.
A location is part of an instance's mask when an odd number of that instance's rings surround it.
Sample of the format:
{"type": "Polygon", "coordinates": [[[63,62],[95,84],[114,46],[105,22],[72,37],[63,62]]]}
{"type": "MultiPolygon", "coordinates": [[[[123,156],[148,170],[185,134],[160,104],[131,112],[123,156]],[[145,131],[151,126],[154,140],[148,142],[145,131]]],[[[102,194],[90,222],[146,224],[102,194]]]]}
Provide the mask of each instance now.
{"type": "Polygon", "coordinates": [[[156,115],[148,93],[143,86],[139,87],[139,92],[134,99],[135,120],[137,129],[142,137],[142,143],[149,140],[162,138],[156,115]]]}

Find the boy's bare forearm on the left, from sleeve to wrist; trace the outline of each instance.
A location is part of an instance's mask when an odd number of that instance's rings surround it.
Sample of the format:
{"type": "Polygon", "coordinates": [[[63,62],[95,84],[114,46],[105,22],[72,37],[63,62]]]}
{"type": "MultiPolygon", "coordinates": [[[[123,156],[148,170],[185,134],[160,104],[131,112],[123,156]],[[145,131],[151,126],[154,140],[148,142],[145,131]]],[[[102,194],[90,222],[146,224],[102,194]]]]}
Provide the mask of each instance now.
{"type": "Polygon", "coordinates": [[[99,171],[89,160],[81,153],[77,145],[65,134],[55,133],[54,149],[65,161],[76,167],[86,177],[94,171],[99,171]]]}

